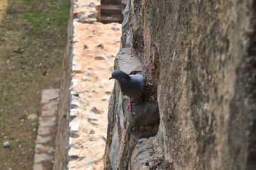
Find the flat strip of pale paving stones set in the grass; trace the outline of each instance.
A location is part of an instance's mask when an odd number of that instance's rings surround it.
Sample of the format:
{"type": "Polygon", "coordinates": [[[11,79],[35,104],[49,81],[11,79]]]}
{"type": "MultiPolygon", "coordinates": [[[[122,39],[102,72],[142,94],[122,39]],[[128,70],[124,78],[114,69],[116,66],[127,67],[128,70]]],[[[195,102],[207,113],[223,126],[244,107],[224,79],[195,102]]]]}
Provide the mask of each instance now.
{"type": "MultiPolygon", "coordinates": [[[[52,167],[54,138],[56,137],[55,125],[59,101],[58,91],[58,89],[47,89],[42,93],[42,114],[39,118],[33,169],[49,169],[52,167]],[[40,162],[42,164],[38,164],[40,162]]],[[[35,119],[37,115],[30,114],[28,118],[35,119]]],[[[19,145],[19,148],[21,147],[19,145]]]]}

